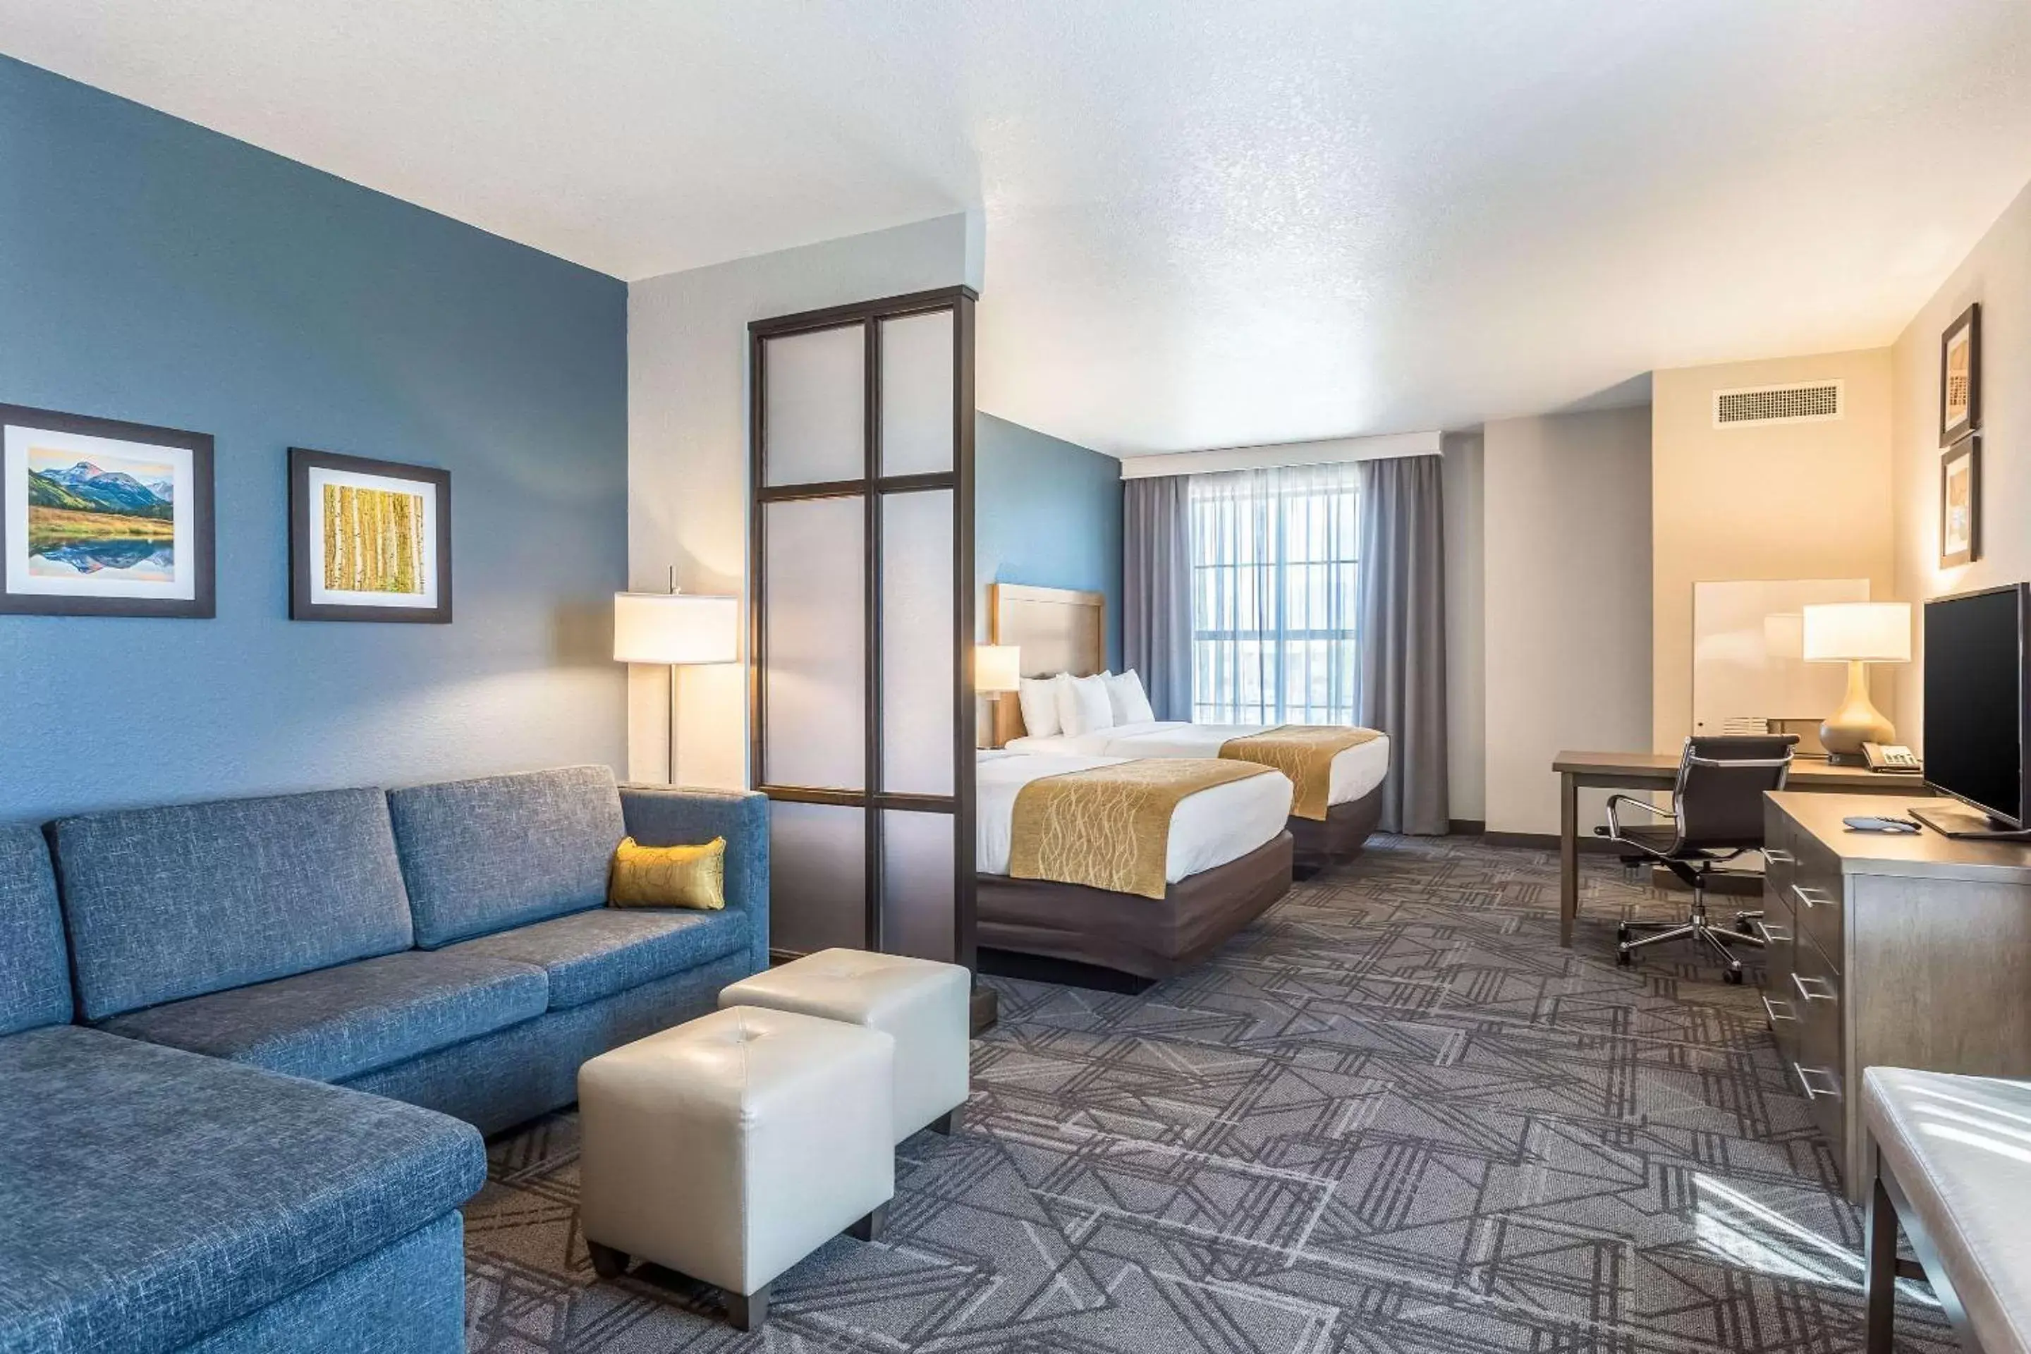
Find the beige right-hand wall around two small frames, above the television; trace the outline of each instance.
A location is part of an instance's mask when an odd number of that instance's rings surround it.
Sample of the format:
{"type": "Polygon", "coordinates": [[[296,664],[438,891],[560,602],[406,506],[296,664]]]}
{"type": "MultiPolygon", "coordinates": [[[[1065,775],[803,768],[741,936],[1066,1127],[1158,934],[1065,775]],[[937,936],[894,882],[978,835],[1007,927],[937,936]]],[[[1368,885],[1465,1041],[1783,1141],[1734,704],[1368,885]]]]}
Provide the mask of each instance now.
{"type": "MultiPolygon", "coordinates": [[[[1913,603],[2031,579],[2031,189],[1996,219],[1897,339],[1897,597],[1913,603]],[[1940,335],[1982,302],[1982,558],[1940,568],[1940,335]]],[[[1913,656],[1923,625],[1913,627],[1913,656]]],[[[1923,745],[1919,664],[1897,670],[1897,737],[1923,745]]]]}

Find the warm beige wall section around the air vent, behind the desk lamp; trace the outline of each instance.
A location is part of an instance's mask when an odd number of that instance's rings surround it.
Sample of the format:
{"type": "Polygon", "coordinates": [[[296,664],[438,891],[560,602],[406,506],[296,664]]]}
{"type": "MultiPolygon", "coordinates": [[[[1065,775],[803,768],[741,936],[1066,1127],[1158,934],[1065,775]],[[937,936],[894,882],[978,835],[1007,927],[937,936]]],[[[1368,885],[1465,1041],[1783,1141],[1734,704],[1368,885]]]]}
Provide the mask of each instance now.
{"type": "MultiPolygon", "coordinates": [[[[1891,353],[1822,353],[1678,367],[1651,378],[1653,751],[1692,733],[1692,585],[1732,579],[1869,579],[1895,593],[1891,353]],[[1832,422],[1716,428],[1712,396],[1840,378],[1832,422]]],[[[1891,676],[1877,700],[1891,708],[1891,676]]]]}

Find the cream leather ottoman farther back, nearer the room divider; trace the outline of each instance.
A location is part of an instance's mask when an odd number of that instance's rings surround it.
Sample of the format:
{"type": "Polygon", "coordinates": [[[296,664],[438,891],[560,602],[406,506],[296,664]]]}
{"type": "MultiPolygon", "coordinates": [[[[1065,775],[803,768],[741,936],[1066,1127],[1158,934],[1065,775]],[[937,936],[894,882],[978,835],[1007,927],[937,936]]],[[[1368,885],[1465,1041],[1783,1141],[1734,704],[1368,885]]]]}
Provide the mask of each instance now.
{"type": "Polygon", "coordinates": [[[967,1102],[973,974],[902,954],[818,950],[719,993],[721,1007],[770,1007],[896,1037],[896,1141],[951,1133],[967,1102]]]}

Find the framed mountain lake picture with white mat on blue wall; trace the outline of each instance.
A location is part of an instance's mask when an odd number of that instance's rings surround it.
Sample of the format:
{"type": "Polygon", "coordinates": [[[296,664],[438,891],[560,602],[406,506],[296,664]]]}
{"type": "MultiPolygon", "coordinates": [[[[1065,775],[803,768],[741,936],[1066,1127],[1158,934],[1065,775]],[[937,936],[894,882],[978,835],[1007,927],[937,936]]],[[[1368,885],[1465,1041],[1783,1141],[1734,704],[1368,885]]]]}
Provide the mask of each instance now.
{"type": "Polygon", "coordinates": [[[0,613],[215,615],[211,434],[0,404],[0,613]]]}

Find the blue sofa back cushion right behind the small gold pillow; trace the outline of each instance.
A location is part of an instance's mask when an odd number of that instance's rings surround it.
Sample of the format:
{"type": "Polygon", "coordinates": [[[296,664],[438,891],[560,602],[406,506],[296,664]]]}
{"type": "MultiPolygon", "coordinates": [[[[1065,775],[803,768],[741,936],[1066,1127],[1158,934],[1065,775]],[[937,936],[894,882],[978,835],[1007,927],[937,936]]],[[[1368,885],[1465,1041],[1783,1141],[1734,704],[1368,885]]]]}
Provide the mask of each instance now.
{"type": "Polygon", "coordinates": [[[599,907],[626,836],[607,767],[414,786],[388,810],[427,950],[599,907]]]}

